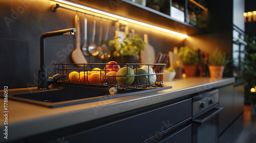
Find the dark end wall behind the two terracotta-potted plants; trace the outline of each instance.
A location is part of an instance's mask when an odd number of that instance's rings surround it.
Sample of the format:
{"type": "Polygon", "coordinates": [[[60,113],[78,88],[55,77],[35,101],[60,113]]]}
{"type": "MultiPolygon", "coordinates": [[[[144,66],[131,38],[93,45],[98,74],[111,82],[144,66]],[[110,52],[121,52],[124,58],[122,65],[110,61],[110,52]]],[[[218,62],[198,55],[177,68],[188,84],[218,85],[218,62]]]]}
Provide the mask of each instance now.
{"type": "Polygon", "coordinates": [[[223,77],[233,76],[232,67],[232,24],[233,1],[206,1],[208,8],[207,32],[189,36],[185,44],[198,47],[201,52],[211,54],[219,47],[227,54],[229,63],[225,66],[223,77]]]}

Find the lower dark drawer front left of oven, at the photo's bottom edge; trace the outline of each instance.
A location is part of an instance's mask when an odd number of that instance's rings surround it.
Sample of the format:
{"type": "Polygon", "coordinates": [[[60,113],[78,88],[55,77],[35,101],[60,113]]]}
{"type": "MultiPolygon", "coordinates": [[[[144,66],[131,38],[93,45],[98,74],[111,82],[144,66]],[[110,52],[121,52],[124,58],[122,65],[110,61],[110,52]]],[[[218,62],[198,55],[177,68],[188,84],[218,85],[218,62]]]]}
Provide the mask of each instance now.
{"type": "Polygon", "coordinates": [[[162,139],[161,143],[169,143],[169,142],[192,142],[192,125],[188,125],[187,127],[179,130],[178,132],[162,139]]]}

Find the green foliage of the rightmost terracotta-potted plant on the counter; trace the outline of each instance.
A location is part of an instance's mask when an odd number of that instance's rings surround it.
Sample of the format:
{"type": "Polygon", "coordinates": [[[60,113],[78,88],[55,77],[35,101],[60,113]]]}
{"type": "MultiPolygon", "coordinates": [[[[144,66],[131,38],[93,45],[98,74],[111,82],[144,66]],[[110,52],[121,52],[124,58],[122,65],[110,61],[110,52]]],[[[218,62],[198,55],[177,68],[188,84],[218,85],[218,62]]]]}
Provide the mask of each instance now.
{"type": "Polygon", "coordinates": [[[226,60],[226,53],[221,52],[219,48],[217,47],[214,50],[214,53],[209,55],[209,61],[208,65],[220,65],[220,66],[225,66],[227,64],[226,60]]]}

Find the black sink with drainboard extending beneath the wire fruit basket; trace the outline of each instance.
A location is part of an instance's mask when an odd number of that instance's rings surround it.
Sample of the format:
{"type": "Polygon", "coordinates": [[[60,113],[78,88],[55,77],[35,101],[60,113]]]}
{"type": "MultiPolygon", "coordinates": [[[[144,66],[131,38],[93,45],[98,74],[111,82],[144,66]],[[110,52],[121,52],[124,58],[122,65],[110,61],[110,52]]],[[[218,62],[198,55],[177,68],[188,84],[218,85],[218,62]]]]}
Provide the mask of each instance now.
{"type": "MultiPolygon", "coordinates": [[[[122,92],[111,95],[108,90],[99,90],[91,88],[81,88],[72,86],[57,86],[52,89],[40,90],[37,87],[32,89],[16,89],[8,91],[8,98],[11,100],[22,101],[26,103],[46,106],[49,108],[77,105],[82,103],[97,102],[102,100],[115,99],[125,96],[132,96],[145,92],[152,92],[157,90],[164,90],[172,88],[166,87],[153,87],[147,89],[136,89],[129,92],[122,92]]],[[[3,94],[2,94],[3,95],[3,94]]]]}

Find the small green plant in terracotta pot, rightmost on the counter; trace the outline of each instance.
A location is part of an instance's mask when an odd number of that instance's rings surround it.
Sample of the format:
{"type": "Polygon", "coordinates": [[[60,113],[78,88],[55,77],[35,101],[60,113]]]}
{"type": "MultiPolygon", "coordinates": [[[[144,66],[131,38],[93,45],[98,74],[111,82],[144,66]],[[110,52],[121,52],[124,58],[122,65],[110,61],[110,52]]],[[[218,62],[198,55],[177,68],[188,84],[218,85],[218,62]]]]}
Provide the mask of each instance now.
{"type": "Polygon", "coordinates": [[[208,60],[210,78],[221,79],[224,66],[227,64],[226,53],[222,53],[217,47],[217,49],[214,50],[214,53],[209,55],[208,60]]]}

